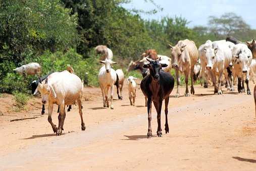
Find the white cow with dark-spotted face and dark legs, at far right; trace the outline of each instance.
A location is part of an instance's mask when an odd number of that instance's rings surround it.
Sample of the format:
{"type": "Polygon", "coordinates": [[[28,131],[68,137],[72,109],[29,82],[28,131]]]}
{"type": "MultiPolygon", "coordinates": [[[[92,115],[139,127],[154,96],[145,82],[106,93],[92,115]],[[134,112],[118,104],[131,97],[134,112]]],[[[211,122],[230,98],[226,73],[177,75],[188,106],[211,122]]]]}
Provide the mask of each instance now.
{"type": "Polygon", "coordinates": [[[244,77],[247,87],[247,95],[250,95],[249,74],[252,61],[252,53],[250,49],[242,43],[236,44],[232,50],[232,62],[234,65],[234,76],[238,77],[238,93],[245,92],[244,77]],[[242,85],[241,85],[242,83],[242,85]]]}

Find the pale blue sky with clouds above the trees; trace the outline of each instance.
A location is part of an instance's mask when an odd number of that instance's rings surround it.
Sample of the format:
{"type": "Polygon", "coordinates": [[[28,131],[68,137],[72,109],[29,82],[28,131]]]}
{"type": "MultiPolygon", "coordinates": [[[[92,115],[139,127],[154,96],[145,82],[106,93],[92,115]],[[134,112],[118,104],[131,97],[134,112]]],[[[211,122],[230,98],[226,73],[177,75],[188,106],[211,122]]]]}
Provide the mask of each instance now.
{"type": "MultiPolygon", "coordinates": [[[[162,12],[155,15],[141,14],[144,19],[161,19],[164,16],[182,16],[191,23],[189,27],[196,25],[207,26],[209,16],[221,16],[224,13],[233,12],[241,16],[251,28],[256,29],[256,0],[155,0],[155,3],[163,8],[162,12]]],[[[132,3],[123,5],[127,9],[154,9],[150,3],[143,0],[133,0],[132,3]]]]}

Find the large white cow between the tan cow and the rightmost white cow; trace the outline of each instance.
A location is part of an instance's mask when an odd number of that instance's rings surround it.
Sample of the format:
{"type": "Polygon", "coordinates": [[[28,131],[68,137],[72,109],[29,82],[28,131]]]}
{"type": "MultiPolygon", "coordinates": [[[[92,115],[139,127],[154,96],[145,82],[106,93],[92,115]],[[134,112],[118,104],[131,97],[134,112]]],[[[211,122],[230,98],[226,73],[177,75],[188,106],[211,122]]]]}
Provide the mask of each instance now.
{"type": "MultiPolygon", "coordinates": [[[[225,40],[220,41],[207,41],[204,45],[200,46],[200,59],[203,67],[206,68],[210,72],[211,79],[214,84],[214,93],[218,93],[218,95],[222,94],[221,90],[221,82],[222,76],[224,74],[226,81],[228,83],[228,90],[233,91],[233,80],[232,78],[228,77],[227,67],[230,66],[232,61],[232,43],[226,42],[225,40]],[[218,77],[218,86],[217,86],[217,78],[218,77]],[[228,81],[228,79],[230,79],[228,81]],[[231,88],[230,84],[231,82],[231,88]]],[[[202,74],[204,72],[202,71],[202,74]]]]}

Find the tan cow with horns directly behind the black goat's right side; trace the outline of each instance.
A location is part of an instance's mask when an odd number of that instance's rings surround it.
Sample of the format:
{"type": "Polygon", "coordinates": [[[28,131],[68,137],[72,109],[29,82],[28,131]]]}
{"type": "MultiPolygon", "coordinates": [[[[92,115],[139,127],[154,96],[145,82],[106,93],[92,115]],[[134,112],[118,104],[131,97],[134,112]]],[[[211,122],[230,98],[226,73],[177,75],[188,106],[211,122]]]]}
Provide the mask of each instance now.
{"type": "Polygon", "coordinates": [[[185,82],[186,82],[186,92],[185,97],[189,96],[188,92],[188,77],[191,78],[191,90],[190,93],[194,94],[193,86],[193,75],[194,75],[194,65],[198,59],[198,51],[195,46],[195,43],[191,40],[185,39],[180,40],[177,45],[174,47],[169,45],[171,48],[172,56],[172,67],[175,69],[176,79],[177,79],[177,94],[176,97],[180,96],[179,85],[180,85],[180,76],[179,72],[184,72],[185,82]]]}

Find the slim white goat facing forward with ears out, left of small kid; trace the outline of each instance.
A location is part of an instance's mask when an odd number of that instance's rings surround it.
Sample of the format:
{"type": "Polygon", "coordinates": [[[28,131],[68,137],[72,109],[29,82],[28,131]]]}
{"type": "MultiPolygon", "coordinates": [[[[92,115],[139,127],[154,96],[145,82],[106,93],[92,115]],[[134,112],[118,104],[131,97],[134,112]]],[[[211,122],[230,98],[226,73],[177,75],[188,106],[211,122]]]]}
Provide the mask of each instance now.
{"type": "Polygon", "coordinates": [[[101,60],[99,62],[104,63],[104,66],[102,66],[99,69],[99,73],[98,73],[99,87],[101,89],[101,94],[103,97],[103,107],[109,107],[108,92],[110,88],[110,94],[111,94],[110,108],[114,109],[112,102],[113,102],[114,83],[117,80],[117,73],[114,69],[111,68],[111,65],[115,64],[116,62],[113,62],[111,59],[101,60]]]}

